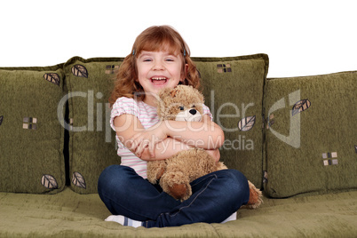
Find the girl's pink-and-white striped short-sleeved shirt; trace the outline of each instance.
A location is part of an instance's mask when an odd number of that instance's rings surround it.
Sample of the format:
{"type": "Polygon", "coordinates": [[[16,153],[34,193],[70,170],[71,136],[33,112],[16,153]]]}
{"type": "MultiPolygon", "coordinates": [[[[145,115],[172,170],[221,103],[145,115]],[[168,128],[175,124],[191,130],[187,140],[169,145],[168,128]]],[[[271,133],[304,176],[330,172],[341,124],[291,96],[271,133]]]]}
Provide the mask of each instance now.
{"type": "MultiPolygon", "coordinates": [[[[145,129],[150,128],[159,122],[156,107],[147,105],[143,101],[136,101],[134,99],[122,97],[116,99],[110,115],[110,126],[114,131],[115,117],[123,114],[130,114],[138,117],[140,123],[145,129]]],[[[205,105],[203,105],[203,114],[210,115],[210,118],[212,119],[210,108],[205,105]]],[[[118,143],[117,154],[122,158],[121,164],[131,167],[142,178],[147,178],[147,162],[134,155],[127,147],[124,147],[117,135],[115,136],[115,139],[118,143]]]]}

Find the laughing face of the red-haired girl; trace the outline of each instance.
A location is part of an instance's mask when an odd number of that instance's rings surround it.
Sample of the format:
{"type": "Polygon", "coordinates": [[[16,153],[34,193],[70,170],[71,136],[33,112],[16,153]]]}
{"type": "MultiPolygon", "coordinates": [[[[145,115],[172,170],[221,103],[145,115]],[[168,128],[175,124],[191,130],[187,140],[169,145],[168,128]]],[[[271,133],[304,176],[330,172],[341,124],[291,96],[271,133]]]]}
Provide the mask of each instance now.
{"type": "MultiPolygon", "coordinates": [[[[138,81],[145,91],[144,102],[155,106],[155,94],[163,88],[174,88],[185,79],[182,58],[166,51],[142,51],[137,59],[138,81]]],[[[185,71],[186,71],[185,66],[185,71]]]]}

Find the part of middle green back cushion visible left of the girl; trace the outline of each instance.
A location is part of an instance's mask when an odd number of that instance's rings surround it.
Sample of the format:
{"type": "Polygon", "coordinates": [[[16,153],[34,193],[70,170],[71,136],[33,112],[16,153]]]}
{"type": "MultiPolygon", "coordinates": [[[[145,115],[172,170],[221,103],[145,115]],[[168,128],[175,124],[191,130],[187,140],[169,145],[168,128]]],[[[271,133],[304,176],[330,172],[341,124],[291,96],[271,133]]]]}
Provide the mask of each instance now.
{"type": "Polygon", "coordinates": [[[65,64],[69,108],[69,179],[80,194],[97,193],[107,166],[120,163],[108,98],[123,59],[74,57],[65,64]]]}

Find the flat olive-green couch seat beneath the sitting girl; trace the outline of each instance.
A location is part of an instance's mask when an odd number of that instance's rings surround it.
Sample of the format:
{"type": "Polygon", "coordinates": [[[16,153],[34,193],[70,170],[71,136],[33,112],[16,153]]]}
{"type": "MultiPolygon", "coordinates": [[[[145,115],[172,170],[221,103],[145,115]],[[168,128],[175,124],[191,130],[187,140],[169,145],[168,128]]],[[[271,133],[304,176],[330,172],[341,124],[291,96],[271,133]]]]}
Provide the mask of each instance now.
{"type": "Polygon", "coordinates": [[[137,229],[104,221],[98,194],[0,193],[0,237],[355,237],[357,191],[267,199],[226,224],[137,229]]]}

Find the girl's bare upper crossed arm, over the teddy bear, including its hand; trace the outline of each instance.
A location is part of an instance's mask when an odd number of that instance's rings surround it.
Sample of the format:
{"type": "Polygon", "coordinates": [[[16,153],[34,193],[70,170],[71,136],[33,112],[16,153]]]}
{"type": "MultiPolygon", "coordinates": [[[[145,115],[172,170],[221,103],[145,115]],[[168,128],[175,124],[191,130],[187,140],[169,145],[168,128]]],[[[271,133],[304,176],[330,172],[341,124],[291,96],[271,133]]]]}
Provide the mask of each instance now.
{"type": "MultiPolygon", "coordinates": [[[[155,157],[156,144],[163,139],[171,138],[190,147],[216,150],[224,142],[224,133],[216,123],[210,121],[209,115],[203,115],[202,119],[202,122],[163,121],[157,123],[147,130],[135,133],[127,146],[131,151],[135,151],[136,155],[141,155],[148,149],[150,155],[155,157]]],[[[212,155],[217,155],[217,153],[212,153],[212,155]]]]}

